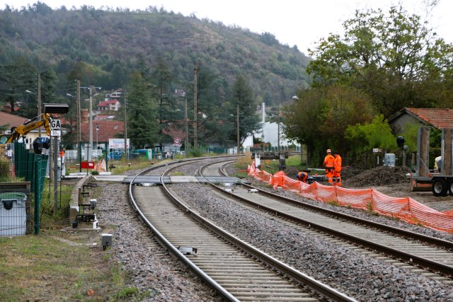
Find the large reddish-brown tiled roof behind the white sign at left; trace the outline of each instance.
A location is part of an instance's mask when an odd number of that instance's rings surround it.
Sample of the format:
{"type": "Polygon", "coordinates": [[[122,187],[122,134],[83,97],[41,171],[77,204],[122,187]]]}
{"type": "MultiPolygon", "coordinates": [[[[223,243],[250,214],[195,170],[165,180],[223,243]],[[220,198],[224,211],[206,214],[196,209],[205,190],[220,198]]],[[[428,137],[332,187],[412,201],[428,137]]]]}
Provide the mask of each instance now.
{"type": "MultiPolygon", "coordinates": [[[[108,139],[115,139],[117,134],[122,135],[125,129],[125,122],[115,120],[93,120],[93,141],[96,141],[96,132],[98,132],[98,142],[108,143],[108,139]],[[98,124],[99,130],[96,130],[98,124]]],[[[90,140],[90,125],[81,124],[82,141],[90,140]]]]}

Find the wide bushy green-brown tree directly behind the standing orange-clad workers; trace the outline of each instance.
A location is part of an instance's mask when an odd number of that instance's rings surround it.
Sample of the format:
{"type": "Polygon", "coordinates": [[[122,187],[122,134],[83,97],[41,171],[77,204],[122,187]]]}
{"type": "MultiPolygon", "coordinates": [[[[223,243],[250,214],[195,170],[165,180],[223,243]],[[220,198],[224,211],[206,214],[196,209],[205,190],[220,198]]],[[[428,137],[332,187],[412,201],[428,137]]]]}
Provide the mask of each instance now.
{"type": "Polygon", "coordinates": [[[283,132],[288,139],[311,146],[313,152],[328,148],[349,151],[345,130],[374,116],[369,96],[348,86],[316,86],[302,91],[298,98],[282,110],[283,132]]]}

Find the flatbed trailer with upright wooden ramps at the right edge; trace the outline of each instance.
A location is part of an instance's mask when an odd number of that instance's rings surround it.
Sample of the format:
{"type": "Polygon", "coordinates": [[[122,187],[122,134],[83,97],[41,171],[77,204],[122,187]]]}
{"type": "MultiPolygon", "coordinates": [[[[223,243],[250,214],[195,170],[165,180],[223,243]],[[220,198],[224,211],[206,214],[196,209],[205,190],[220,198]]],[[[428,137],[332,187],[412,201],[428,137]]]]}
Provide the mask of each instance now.
{"type": "Polygon", "coordinates": [[[430,127],[420,126],[417,136],[415,173],[411,173],[411,191],[431,190],[434,196],[453,195],[453,128],[442,129],[442,161],[439,170],[430,170],[430,127]]]}

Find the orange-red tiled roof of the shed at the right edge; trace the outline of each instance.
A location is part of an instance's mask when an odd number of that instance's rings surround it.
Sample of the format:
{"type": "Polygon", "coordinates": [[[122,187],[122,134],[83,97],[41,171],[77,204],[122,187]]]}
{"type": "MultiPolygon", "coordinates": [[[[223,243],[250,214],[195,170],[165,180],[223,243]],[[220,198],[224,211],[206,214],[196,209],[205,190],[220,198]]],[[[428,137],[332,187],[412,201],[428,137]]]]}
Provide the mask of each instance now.
{"type": "Polygon", "coordinates": [[[449,108],[404,108],[408,114],[418,117],[437,129],[453,128],[453,109],[449,108]]]}

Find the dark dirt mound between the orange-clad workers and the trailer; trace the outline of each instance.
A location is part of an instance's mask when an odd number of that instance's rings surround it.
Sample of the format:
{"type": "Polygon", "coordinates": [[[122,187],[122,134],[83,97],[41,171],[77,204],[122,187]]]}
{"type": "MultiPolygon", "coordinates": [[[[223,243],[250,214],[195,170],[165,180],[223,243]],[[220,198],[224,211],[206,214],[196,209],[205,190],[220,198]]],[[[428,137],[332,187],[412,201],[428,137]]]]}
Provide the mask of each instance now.
{"type": "Polygon", "coordinates": [[[406,173],[411,171],[408,167],[379,166],[347,178],[345,175],[351,175],[351,173],[346,167],[344,170],[345,173],[341,171],[344,187],[372,187],[408,183],[406,173]]]}

